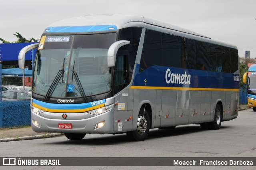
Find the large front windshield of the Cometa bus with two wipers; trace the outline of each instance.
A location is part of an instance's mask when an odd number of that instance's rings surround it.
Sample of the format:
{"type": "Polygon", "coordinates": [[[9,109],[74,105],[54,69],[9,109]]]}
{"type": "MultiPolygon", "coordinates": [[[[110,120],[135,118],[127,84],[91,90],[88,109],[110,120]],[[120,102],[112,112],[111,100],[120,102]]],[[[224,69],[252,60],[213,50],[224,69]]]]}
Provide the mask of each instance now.
{"type": "Polygon", "coordinates": [[[107,52],[116,36],[116,33],[42,36],[32,91],[49,97],[85,97],[110,91],[107,52]]]}

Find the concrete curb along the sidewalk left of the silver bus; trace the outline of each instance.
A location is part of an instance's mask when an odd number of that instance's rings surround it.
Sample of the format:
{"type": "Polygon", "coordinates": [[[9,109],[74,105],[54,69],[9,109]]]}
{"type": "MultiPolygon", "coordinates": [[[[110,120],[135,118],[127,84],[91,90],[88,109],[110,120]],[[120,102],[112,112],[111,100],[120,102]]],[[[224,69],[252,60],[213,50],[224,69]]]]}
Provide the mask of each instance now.
{"type": "Polygon", "coordinates": [[[0,142],[11,142],[11,141],[18,141],[18,140],[32,140],[32,139],[41,139],[41,138],[52,138],[62,136],[63,133],[47,133],[47,134],[40,134],[36,136],[23,136],[18,138],[5,138],[0,139],[0,142]]]}

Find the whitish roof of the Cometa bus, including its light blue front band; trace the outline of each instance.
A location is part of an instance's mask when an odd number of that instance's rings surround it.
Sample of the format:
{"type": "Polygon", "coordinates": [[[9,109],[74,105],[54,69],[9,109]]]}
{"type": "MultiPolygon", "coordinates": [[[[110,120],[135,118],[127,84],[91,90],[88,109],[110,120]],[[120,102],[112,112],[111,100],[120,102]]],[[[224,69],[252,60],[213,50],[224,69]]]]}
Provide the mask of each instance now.
{"type": "Polygon", "coordinates": [[[202,34],[198,34],[172,24],[146,18],[142,15],[110,14],[69,18],[51,24],[44,30],[44,33],[96,32],[120,30],[127,27],[153,28],[154,26],[162,30],[169,30],[168,32],[174,32],[174,35],[184,36],[186,38],[192,38],[204,42],[216,43],[237,49],[236,46],[230,43],[212,40],[211,38],[202,34]]]}

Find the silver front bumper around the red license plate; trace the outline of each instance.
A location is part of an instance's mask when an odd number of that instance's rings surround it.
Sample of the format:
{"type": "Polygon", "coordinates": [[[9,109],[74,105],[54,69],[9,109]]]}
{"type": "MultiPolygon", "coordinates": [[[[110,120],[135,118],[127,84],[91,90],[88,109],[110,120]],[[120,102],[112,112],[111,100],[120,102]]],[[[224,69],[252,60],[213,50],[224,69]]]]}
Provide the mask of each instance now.
{"type": "Polygon", "coordinates": [[[36,114],[31,111],[32,130],[35,132],[60,133],[113,133],[114,109],[97,116],[91,115],[89,113],[66,113],[66,119],[62,118],[62,114],[64,113],[44,112],[43,114],[36,114]],[[35,121],[38,123],[38,125],[36,125],[35,121]],[[103,127],[95,128],[96,124],[103,121],[105,123],[103,127]],[[72,128],[59,128],[59,123],[71,123],[72,128]]]}

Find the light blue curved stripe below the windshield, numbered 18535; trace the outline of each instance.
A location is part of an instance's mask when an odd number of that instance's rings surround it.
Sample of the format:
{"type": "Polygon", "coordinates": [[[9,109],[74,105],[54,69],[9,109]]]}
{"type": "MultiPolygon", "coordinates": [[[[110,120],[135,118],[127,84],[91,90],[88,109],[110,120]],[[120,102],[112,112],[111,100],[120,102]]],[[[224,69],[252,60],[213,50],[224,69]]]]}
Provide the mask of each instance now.
{"type": "Polygon", "coordinates": [[[90,107],[94,107],[96,105],[105,104],[106,99],[89,103],[79,103],[79,104],[67,104],[67,103],[46,103],[43,101],[39,101],[36,99],[33,99],[33,103],[36,105],[39,105],[41,107],[47,108],[47,109],[60,109],[60,110],[73,110],[73,109],[88,109],[90,107]],[[102,101],[102,102],[101,102],[102,101]]]}

